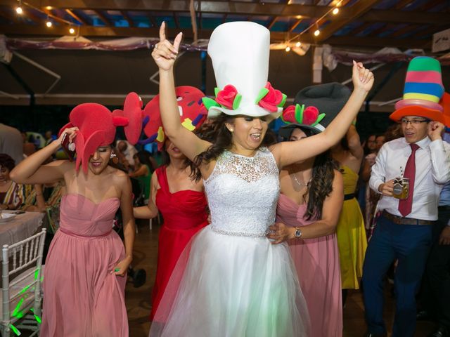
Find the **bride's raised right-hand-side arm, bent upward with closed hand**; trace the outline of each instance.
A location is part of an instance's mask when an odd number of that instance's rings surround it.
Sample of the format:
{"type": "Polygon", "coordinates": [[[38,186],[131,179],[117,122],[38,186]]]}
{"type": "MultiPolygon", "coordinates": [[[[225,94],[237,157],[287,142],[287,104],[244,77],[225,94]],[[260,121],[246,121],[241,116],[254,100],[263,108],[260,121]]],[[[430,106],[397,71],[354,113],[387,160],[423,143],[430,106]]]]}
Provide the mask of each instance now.
{"type": "Polygon", "coordinates": [[[314,157],[328,150],[344,137],[364,103],[368,91],[373,86],[373,74],[364,68],[362,63],[353,62],[352,79],[354,85],[352,95],[325,131],[316,136],[303,138],[295,142],[282,142],[271,147],[280,168],[314,157]]]}

